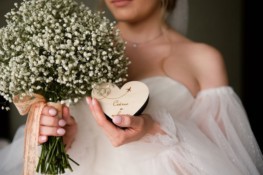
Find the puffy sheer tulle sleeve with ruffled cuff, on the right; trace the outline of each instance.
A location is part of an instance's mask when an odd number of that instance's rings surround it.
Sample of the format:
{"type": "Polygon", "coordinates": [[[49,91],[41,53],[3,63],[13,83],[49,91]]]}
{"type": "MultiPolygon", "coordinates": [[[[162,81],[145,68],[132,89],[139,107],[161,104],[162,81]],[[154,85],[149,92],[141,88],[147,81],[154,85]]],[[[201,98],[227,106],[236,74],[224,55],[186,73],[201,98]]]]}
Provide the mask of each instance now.
{"type": "Polygon", "coordinates": [[[140,164],[154,167],[146,174],[263,173],[262,153],[231,87],[200,91],[184,116],[163,108],[155,114],[152,117],[167,135],[147,134],[124,146],[129,151],[121,154],[133,160],[130,169],[140,164]]]}

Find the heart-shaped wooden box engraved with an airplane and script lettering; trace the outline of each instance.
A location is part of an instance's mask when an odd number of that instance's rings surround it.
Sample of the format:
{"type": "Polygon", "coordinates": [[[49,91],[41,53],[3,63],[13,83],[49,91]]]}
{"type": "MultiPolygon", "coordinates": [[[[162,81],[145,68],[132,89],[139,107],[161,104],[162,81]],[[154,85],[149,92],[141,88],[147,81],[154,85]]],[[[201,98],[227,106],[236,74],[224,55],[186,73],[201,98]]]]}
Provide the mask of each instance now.
{"type": "Polygon", "coordinates": [[[140,115],[148,104],[149,89],[140,81],[130,81],[121,89],[113,83],[102,83],[99,88],[92,89],[91,96],[99,101],[102,111],[112,122],[114,115],[140,115]]]}

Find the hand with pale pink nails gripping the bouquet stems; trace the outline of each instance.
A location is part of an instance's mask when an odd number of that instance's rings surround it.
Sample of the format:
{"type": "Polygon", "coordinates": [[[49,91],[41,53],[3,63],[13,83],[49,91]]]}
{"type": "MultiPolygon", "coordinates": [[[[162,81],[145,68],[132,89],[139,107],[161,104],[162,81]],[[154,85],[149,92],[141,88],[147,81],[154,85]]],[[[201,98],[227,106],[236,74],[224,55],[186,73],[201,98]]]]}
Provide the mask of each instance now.
{"type": "Polygon", "coordinates": [[[39,121],[38,142],[46,142],[48,140],[47,136],[63,136],[63,144],[66,144],[65,150],[67,150],[77,134],[77,124],[75,119],[70,116],[67,106],[63,106],[62,118],[54,117],[56,114],[56,109],[52,107],[44,106],[42,109],[39,121]]]}

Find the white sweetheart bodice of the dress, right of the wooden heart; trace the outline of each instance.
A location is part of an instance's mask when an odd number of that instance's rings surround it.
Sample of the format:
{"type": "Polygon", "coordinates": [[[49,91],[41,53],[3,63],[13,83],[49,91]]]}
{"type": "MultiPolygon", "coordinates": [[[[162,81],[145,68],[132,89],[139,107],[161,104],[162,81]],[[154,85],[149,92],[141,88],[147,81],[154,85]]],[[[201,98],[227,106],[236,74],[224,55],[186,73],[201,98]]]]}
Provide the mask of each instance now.
{"type": "Polygon", "coordinates": [[[194,97],[189,89],[166,76],[154,76],[140,80],[149,88],[149,103],[143,113],[152,114],[153,109],[165,108],[174,117],[184,116],[191,108],[194,97]]]}

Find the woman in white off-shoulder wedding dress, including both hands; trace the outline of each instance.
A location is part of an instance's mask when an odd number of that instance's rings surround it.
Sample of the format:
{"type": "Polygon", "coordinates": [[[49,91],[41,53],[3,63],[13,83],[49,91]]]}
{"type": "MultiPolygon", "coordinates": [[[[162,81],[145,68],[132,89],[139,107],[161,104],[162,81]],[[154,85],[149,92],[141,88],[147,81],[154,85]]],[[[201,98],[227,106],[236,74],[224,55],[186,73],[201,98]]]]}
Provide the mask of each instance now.
{"type": "MultiPolygon", "coordinates": [[[[240,99],[228,86],[222,55],[164,20],[186,1],[105,3],[128,42],[132,64],[127,79],[145,83],[150,99],[139,116],[113,117],[125,130],[107,120],[91,97],[65,106],[63,119],[44,107],[39,143],[50,135],[63,136],[68,154],[80,164],[72,163],[73,173],[66,174],[263,174],[262,153],[240,99]]],[[[22,157],[10,160],[15,148],[17,155],[18,138],[0,152],[7,157],[0,161],[3,174],[22,172],[22,157]]]]}

